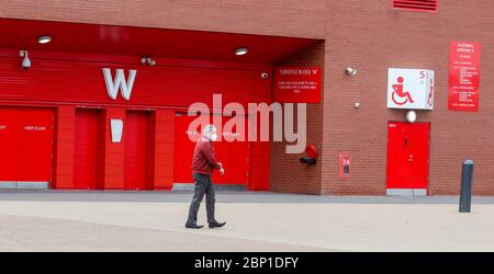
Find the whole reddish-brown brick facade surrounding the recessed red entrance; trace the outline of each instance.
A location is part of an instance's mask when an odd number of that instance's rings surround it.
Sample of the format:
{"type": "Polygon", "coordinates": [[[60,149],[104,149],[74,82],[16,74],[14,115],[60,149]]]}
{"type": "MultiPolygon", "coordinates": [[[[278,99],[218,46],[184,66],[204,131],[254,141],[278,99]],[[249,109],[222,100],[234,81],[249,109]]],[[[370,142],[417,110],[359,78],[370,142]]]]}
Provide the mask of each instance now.
{"type": "MultiPolygon", "coordinates": [[[[430,13],[394,10],[391,2],[12,0],[2,3],[0,18],[325,39],[280,61],[280,65],[323,66],[324,102],[307,109],[308,144],[319,150],[316,165],[301,164],[301,156],[284,155],[284,144],[272,144],[270,178],[274,192],[385,195],[386,125],[389,121],[404,121],[405,114],[386,109],[388,68],[433,69],[436,71],[435,110],[418,112],[418,122],[431,125],[429,194],[458,194],[460,164],[472,158],[474,194],[493,195],[494,3],[492,0],[439,1],[438,12],[430,13]],[[476,113],[447,109],[451,39],[478,42],[483,46],[476,113]],[[344,70],[348,66],[359,73],[346,76],[344,70]],[[353,107],[356,102],[361,103],[358,110],[353,107]],[[350,179],[337,176],[340,152],[352,157],[350,179]]],[[[63,118],[60,123],[72,117],[64,115],[63,118]]],[[[66,152],[57,151],[58,156],[66,152]]],[[[59,174],[57,180],[63,182],[68,175],[59,174]]]]}

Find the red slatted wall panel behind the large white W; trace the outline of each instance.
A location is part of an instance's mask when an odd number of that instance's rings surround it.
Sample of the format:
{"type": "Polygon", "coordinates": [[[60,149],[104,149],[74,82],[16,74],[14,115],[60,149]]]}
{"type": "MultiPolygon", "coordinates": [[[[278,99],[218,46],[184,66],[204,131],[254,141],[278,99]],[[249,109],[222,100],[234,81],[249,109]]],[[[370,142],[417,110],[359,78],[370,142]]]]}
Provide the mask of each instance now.
{"type": "MultiPolygon", "coordinates": [[[[43,56],[42,54],[40,54],[43,56]]],[[[204,68],[161,65],[141,66],[111,60],[58,60],[30,54],[32,67],[20,69],[19,58],[0,57],[0,99],[40,102],[77,102],[111,105],[146,105],[188,107],[194,102],[212,103],[212,94],[222,93],[223,101],[247,103],[255,99],[258,70],[204,68]],[[121,94],[111,100],[102,68],[137,70],[131,100],[121,94]]],[[[201,64],[201,61],[198,61],[201,64]]]]}

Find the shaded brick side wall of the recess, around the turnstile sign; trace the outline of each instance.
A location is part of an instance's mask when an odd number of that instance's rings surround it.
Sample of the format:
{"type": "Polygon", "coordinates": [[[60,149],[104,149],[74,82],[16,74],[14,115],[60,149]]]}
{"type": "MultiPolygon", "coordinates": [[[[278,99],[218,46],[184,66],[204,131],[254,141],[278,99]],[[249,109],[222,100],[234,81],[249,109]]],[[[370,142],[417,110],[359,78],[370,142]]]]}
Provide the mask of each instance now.
{"type": "MultiPolygon", "coordinates": [[[[324,66],[324,42],[305,48],[277,66],[324,66]]],[[[323,94],[324,96],[324,94],[323,94]]],[[[294,105],[296,110],[296,105],[294,105]]],[[[295,111],[296,117],[296,111],[295,111]]],[[[307,104],[307,144],[323,152],[323,104],[307,104]]],[[[283,117],[284,118],[284,117],[283,117]]],[[[294,118],[296,122],[296,118],[294,118]]],[[[287,142],[271,142],[271,185],[273,192],[321,194],[323,163],[315,165],[300,163],[305,155],[287,155],[287,142]]]]}

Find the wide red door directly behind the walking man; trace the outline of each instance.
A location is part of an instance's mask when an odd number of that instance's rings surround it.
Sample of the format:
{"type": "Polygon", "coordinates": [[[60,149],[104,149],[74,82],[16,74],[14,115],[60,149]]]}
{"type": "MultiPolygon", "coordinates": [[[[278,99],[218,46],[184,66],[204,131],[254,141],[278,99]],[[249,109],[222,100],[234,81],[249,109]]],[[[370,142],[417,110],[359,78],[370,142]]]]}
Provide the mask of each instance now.
{"type": "MultiPolygon", "coordinates": [[[[201,129],[188,132],[189,124],[195,119],[190,116],[176,117],[175,130],[175,180],[176,183],[191,183],[192,179],[192,156],[195,142],[191,141],[189,135],[200,135],[201,129]]],[[[223,125],[229,118],[223,117],[223,125]]],[[[247,121],[245,122],[247,125],[247,121]]],[[[218,125],[216,125],[218,127],[218,125]]],[[[218,127],[220,128],[220,127],[218,127]]],[[[240,128],[234,128],[233,133],[225,130],[218,132],[218,135],[243,134],[240,128]]],[[[246,139],[246,138],[245,138],[246,139]]],[[[218,184],[247,184],[248,181],[248,160],[249,144],[248,141],[226,141],[225,139],[214,142],[216,160],[223,163],[225,175],[217,172],[213,175],[213,180],[218,184]]]]}

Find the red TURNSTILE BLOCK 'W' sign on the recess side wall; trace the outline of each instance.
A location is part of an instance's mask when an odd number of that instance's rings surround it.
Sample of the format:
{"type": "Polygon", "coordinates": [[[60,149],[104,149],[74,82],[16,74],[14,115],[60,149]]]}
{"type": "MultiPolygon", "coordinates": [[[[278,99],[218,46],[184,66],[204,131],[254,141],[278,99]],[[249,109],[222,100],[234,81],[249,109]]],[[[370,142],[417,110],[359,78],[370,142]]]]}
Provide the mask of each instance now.
{"type": "Polygon", "coordinates": [[[319,67],[274,69],[274,101],[280,103],[321,103],[319,67]]]}

